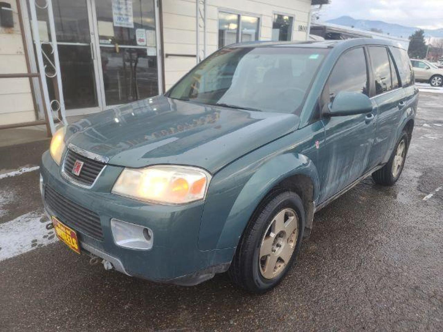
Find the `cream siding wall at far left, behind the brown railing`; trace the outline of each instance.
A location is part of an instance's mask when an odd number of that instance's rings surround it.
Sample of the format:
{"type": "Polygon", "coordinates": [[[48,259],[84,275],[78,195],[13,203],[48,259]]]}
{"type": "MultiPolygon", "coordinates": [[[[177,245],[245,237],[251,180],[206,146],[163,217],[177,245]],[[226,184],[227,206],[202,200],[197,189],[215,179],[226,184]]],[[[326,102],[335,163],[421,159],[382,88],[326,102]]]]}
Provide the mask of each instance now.
{"type": "MultiPolygon", "coordinates": [[[[16,0],[11,4],[14,27],[0,27],[0,73],[27,73],[16,0]]],[[[0,78],[0,125],[35,120],[28,78],[0,78]]]]}

